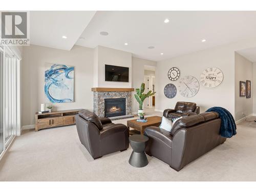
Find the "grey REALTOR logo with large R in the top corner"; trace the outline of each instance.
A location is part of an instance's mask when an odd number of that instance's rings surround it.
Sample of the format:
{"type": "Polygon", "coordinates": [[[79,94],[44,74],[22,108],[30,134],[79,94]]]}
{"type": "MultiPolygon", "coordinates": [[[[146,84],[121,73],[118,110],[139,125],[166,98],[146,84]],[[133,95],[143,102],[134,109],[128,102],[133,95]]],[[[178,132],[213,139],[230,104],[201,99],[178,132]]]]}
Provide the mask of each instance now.
{"type": "Polygon", "coordinates": [[[0,45],[29,45],[29,12],[1,12],[0,45]]]}

